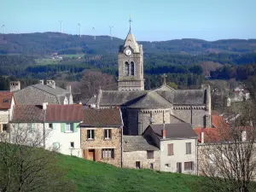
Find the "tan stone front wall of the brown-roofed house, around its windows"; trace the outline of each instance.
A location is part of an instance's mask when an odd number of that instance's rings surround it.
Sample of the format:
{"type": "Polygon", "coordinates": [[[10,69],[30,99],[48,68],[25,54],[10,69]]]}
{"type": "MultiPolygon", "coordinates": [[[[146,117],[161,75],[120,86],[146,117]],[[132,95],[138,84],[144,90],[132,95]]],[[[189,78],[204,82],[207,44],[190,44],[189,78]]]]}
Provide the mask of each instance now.
{"type": "Polygon", "coordinates": [[[95,149],[95,160],[112,164],[113,166],[121,166],[121,139],[122,129],[115,127],[105,128],[84,128],[81,127],[81,149],[84,159],[89,159],[89,149],[95,149]],[[111,129],[111,139],[104,139],[104,129],[111,129]],[[87,139],[87,130],[95,131],[93,140],[87,139]],[[113,148],[113,158],[102,159],[102,148],[113,148]]]}

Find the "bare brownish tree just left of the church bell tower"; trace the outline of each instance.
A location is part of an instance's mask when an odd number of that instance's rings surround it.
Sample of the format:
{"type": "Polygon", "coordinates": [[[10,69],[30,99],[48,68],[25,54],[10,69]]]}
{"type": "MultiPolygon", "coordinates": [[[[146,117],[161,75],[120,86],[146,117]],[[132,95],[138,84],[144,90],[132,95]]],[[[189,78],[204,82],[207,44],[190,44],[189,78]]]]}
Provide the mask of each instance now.
{"type": "Polygon", "coordinates": [[[83,98],[96,95],[99,87],[102,90],[116,90],[117,84],[113,75],[107,73],[86,70],[80,81],[80,90],[83,98]]]}

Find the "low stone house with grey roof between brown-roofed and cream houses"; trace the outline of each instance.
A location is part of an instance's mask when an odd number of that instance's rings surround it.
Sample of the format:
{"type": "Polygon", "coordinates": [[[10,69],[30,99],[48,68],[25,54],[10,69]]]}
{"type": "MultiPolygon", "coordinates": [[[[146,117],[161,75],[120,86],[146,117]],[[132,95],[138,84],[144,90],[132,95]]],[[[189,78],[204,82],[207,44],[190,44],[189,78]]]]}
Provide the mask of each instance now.
{"type": "Polygon", "coordinates": [[[160,148],[150,137],[124,136],[123,167],[160,170],[160,148]]]}

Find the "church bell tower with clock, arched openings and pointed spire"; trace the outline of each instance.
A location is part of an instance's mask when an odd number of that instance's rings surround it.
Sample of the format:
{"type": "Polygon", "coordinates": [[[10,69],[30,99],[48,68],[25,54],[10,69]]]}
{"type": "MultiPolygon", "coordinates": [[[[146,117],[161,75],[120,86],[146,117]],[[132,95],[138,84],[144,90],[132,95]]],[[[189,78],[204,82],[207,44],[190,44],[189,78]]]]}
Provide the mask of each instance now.
{"type": "Polygon", "coordinates": [[[119,49],[119,90],[144,90],[143,45],[137,41],[130,30],[125,44],[119,49]]]}

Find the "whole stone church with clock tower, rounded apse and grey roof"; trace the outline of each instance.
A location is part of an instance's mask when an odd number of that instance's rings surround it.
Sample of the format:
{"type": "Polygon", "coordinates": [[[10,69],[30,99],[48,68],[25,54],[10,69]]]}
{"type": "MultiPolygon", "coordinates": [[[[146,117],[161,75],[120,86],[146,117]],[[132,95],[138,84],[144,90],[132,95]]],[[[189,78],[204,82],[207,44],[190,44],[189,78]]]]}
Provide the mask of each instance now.
{"type": "Polygon", "coordinates": [[[166,85],[144,90],[143,45],[130,31],[119,49],[118,90],[99,90],[87,105],[121,108],[125,135],[142,135],[149,124],[189,123],[192,127],[211,127],[211,90],[174,90],[166,85]]]}

